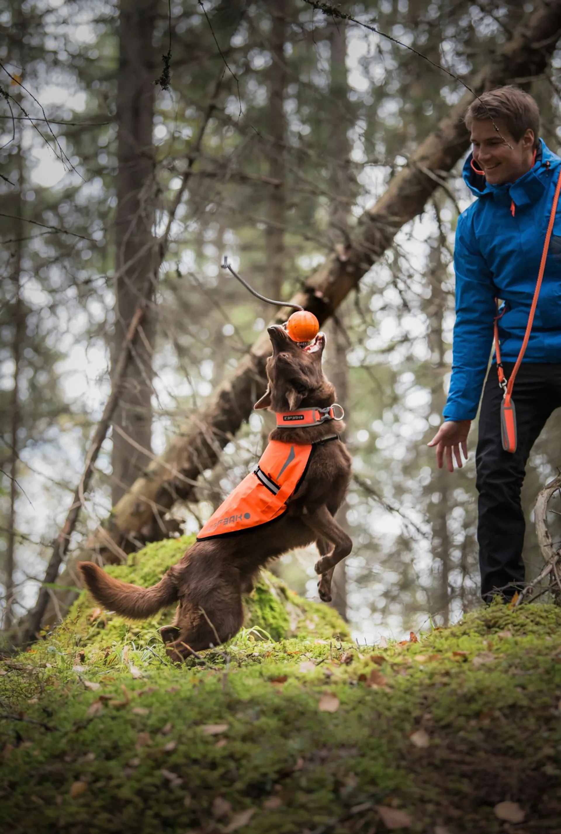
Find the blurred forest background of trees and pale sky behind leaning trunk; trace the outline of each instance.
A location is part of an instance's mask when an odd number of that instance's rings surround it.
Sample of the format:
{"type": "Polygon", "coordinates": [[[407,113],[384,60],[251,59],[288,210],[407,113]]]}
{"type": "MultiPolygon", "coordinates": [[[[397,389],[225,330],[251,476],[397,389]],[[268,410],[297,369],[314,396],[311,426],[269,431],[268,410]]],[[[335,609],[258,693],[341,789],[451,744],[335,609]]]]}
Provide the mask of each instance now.
{"type": "MultiPolygon", "coordinates": [[[[214,455],[201,451],[200,476],[191,471],[196,444],[184,465],[208,409],[231,411],[213,392],[228,390],[275,314],[220,269],[223,254],[256,289],[282,299],[333,253],[344,264],[365,209],[458,103],[462,80],[470,83],[537,4],[335,5],[354,22],[305,0],[5,0],[4,630],[35,605],[140,300],[147,306],[123,393],[69,557],[88,548],[118,561],[147,540],[194,533],[242,479],[271,415],[250,414],[232,430],[227,414],[207,438],[214,455]],[[147,499],[152,520],[137,524],[129,490],[151,464],[183,489],[166,487],[164,505],[147,499]],[[128,520],[112,543],[116,507],[128,520]]],[[[543,139],[559,152],[561,52],[537,77],[515,80],[538,99],[543,139]]],[[[453,475],[438,471],[426,448],[451,364],[453,234],[471,201],[463,158],[323,326],[354,472],[340,515],[354,548],[338,570],[335,604],[369,642],[478,605],[475,430],[468,465],[453,475]]],[[[244,396],[254,401],[262,390],[256,378],[244,396]]],[[[528,520],[560,440],[550,422],[533,450],[528,520]]],[[[530,570],[542,561],[532,525],[526,559],[530,570]]],[[[314,560],[315,552],[289,554],[275,570],[315,598],[314,560]]],[[[74,579],[71,564],[56,567],[67,597],[53,583],[46,591],[60,616],[74,579]]]]}

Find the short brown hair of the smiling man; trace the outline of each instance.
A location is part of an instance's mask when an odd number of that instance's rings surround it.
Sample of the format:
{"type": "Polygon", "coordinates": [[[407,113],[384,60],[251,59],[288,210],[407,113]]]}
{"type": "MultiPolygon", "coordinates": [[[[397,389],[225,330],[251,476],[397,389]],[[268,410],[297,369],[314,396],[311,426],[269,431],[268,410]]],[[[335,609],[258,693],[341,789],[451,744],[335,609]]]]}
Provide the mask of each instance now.
{"type": "Polygon", "coordinates": [[[501,119],[516,142],[530,128],[533,130],[533,147],[538,147],[539,110],[529,93],[524,93],[513,84],[482,93],[469,105],[464,122],[468,130],[471,130],[473,122],[489,118],[493,122],[501,119]]]}

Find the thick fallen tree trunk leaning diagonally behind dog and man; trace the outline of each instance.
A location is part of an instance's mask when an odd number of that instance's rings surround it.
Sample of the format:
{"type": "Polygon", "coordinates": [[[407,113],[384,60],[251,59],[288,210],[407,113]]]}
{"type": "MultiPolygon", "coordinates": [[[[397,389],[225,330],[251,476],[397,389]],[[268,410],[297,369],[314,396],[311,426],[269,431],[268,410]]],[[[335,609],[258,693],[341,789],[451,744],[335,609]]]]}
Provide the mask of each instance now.
{"type": "MultiPolygon", "coordinates": [[[[483,93],[521,76],[540,75],[560,36],[561,0],[540,3],[508,43],[471,79],[473,93],[483,93]]],[[[364,212],[344,254],[329,255],[292,299],[311,310],[320,324],[382,257],[403,224],[423,211],[428,197],[468,149],[463,114],[473,101],[473,93],[464,93],[418,146],[408,165],[391,180],[382,197],[364,212]]],[[[281,323],[288,314],[288,309],[280,309],[274,321],[281,323]]],[[[198,475],[216,463],[223,447],[243,421],[248,420],[253,403],[263,394],[269,354],[270,341],[265,332],[233,374],[218,386],[206,407],[189,418],[163,455],[148,466],[146,474],[118,501],[111,516],[90,537],[79,559],[96,556],[103,559],[119,550],[122,553],[136,550],[138,541],[163,538],[166,529],[163,515],[177,500],[192,497],[198,475]]],[[[69,584],[74,577],[73,567],[69,565],[68,574],[61,576],[61,584],[69,584]]],[[[61,596],[64,604],[73,598],[61,596]]],[[[53,619],[53,611],[48,610],[46,621],[53,619]]]]}

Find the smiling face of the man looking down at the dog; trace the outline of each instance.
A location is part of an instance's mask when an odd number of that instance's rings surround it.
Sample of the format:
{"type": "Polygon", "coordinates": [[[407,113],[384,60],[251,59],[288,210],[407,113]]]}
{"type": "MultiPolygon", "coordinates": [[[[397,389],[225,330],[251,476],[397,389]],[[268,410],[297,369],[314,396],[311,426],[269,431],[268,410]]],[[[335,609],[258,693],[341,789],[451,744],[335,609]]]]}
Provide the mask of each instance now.
{"type": "Polygon", "coordinates": [[[528,128],[516,142],[501,119],[495,120],[495,124],[498,132],[490,118],[472,123],[473,160],[478,168],[483,168],[490,185],[513,183],[532,167],[533,130],[528,128]]]}

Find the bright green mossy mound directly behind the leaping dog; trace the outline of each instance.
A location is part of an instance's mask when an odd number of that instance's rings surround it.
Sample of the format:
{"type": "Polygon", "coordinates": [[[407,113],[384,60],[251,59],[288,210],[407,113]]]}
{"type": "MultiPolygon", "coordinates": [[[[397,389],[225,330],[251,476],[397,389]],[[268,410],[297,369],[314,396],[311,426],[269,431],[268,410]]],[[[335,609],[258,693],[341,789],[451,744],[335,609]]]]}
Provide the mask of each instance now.
{"type": "MultiPolygon", "coordinates": [[[[154,542],[130,555],[127,565],[112,565],[107,571],[133,585],[155,585],[192,542],[193,536],[154,542]]],[[[303,600],[268,571],[263,571],[253,593],[244,598],[244,606],[244,627],[275,641],[293,636],[338,636],[342,639],[349,636],[347,625],[333,608],[303,600]]],[[[147,620],[133,622],[103,611],[88,592],[83,591],[68,612],[64,627],[58,628],[57,639],[64,644],[66,635],[69,647],[79,646],[83,651],[113,648],[118,651],[119,646],[128,642],[132,642],[135,649],[152,646],[159,650],[159,629],[172,620],[174,610],[175,605],[147,620]]]]}

